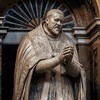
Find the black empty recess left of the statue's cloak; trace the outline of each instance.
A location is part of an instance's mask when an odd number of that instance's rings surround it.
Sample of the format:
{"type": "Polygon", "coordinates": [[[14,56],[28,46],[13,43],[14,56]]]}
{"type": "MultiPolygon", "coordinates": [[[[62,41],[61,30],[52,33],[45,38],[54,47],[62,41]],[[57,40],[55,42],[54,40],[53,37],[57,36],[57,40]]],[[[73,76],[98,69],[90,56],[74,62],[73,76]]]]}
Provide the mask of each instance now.
{"type": "Polygon", "coordinates": [[[14,66],[18,45],[2,46],[2,100],[12,100],[14,66]]]}

